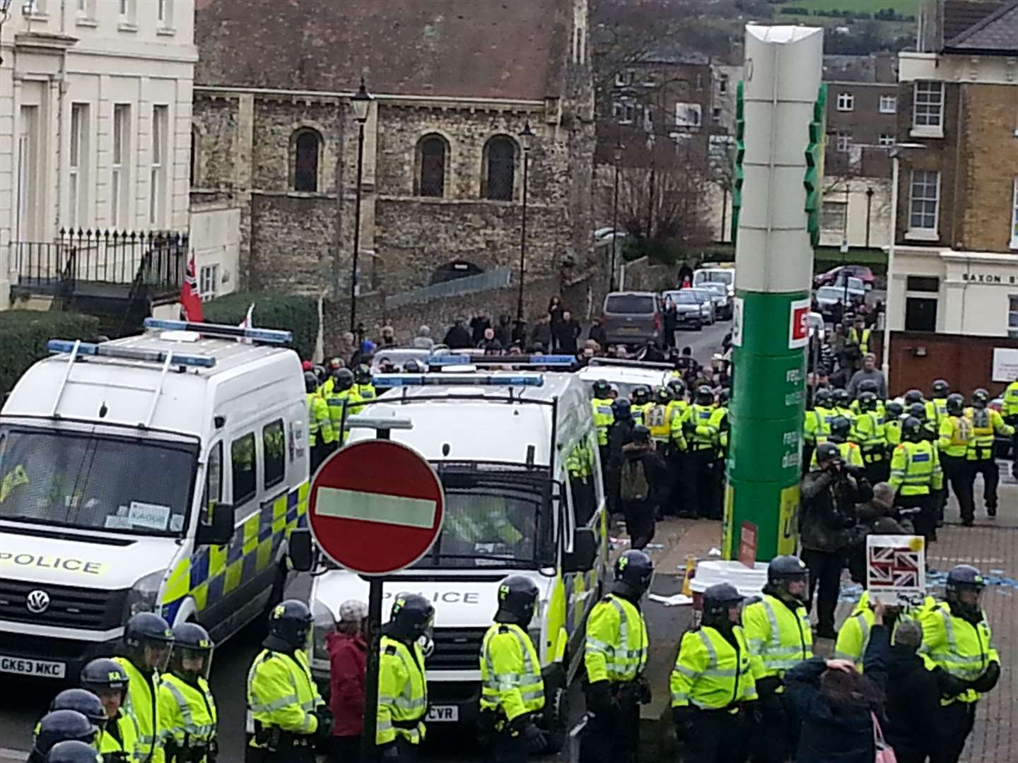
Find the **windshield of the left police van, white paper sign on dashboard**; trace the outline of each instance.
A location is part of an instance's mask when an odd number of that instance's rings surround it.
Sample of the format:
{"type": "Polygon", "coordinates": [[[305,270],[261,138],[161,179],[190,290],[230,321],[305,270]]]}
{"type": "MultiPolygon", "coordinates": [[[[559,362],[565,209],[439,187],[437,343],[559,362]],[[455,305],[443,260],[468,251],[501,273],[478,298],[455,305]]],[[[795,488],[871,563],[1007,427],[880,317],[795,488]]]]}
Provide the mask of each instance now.
{"type": "Polygon", "coordinates": [[[0,427],[0,519],[179,536],[197,446],[0,427]]]}

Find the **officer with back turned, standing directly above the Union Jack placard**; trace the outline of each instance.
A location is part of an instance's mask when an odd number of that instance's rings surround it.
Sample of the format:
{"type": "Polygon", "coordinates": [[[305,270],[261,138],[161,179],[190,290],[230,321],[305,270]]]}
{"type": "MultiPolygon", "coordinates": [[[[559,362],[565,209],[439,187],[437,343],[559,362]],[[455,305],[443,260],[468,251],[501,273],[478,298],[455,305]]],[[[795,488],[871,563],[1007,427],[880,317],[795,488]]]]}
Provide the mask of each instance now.
{"type": "Polygon", "coordinates": [[[891,457],[888,484],[897,490],[895,506],[904,518],[911,519],[917,535],[937,539],[935,493],[944,486],[937,448],[922,436],[922,425],[914,416],[901,427],[903,442],[891,457]]]}

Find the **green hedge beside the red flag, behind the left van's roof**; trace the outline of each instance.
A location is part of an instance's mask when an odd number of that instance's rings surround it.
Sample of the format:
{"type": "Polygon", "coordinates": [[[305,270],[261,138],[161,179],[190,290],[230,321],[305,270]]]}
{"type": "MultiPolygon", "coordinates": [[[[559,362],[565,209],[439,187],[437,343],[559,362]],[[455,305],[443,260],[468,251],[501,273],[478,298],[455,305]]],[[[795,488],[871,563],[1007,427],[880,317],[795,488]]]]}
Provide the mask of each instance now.
{"type": "Polygon", "coordinates": [[[318,342],[318,302],[313,297],[276,292],[235,292],[202,306],[206,321],[237,326],[254,305],[251,321],[258,329],[293,332],[293,349],[301,358],[315,354],[318,342]]]}

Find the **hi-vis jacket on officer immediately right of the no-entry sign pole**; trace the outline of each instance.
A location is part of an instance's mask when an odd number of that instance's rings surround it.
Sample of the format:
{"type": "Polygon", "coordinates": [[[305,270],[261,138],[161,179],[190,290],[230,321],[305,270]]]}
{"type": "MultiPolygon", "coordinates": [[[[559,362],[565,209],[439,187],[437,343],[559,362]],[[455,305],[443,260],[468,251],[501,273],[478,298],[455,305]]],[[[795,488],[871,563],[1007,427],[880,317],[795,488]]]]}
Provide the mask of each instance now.
{"type": "Polygon", "coordinates": [[[406,644],[382,637],[379,661],[379,713],[376,745],[388,745],[402,737],[411,745],[425,738],[423,717],[428,712],[428,679],[425,653],[414,642],[406,644]]]}

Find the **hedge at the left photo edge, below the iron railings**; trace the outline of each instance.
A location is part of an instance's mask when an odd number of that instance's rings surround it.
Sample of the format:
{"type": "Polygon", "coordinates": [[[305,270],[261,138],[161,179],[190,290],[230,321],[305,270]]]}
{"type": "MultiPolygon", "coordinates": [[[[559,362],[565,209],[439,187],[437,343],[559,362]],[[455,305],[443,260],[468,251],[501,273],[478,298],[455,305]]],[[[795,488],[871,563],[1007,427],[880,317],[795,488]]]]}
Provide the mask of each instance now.
{"type": "Polygon", "coordinates": [[[93,315],[39,310],[0,312],[0,397],[14,389],[33,363],[49,355],[49,340],[93,341],[98,334],[99,318],[93,315]]]}

